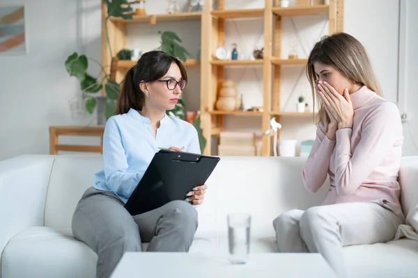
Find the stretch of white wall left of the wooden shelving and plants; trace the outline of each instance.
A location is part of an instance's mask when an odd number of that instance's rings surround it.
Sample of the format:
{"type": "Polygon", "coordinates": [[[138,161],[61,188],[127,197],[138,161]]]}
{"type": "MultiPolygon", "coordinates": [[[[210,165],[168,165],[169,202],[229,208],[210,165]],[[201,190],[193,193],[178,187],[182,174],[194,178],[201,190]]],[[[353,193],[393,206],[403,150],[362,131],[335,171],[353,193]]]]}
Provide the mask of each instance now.
{"type": "Polygon", "coordinates": [[[72,118],[69,101],[79,85],[64,62],[79,50],[78,1],[3,0],[25,5],[25,56],[0,56],[0,159],[49,153],[48,127],[86,124],[72,118]],[[48,9],[46,12],[45,9],[48,9]]]}

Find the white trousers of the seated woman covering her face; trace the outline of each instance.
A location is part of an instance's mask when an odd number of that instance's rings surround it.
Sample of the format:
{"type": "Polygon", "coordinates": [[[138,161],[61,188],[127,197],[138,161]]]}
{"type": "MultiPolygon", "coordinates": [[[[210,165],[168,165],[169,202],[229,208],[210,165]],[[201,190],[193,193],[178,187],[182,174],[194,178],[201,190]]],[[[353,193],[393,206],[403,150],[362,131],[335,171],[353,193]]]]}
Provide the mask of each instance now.
{"type": "Polygon", "coordinates": [[[349,277],[343,246],[393,240],[405,222],[400,208],[382,201],[314,206],[274,219],[279,252],[320,253],[338,277],[349,277]]]}

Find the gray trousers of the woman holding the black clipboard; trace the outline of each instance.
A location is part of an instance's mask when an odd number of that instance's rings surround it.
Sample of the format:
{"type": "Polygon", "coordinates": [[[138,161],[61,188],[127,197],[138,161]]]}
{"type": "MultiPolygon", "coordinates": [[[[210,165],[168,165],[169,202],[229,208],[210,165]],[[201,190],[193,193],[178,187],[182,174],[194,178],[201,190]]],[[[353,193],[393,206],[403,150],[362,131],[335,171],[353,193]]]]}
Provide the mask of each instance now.
{"type": "Polygon", "coordinates": [[[125,252],[188,252],[197,229],[196,208],[173,201],[132,217],[114,193],[88,188],[72,216],[72,234],[98,254],[97,277],[110,277],[125,252]]]}

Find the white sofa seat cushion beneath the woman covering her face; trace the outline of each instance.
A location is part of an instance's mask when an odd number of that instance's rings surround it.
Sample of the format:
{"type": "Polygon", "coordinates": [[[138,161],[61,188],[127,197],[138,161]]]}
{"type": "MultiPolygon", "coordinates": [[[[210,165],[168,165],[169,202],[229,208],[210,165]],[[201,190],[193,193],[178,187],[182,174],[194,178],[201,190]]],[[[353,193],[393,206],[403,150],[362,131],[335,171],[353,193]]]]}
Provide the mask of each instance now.
{"type": "Polygon", "coordinates": [[[410,239],[343,248],[351,277],[418,277],[418,242],[410,239]]]}

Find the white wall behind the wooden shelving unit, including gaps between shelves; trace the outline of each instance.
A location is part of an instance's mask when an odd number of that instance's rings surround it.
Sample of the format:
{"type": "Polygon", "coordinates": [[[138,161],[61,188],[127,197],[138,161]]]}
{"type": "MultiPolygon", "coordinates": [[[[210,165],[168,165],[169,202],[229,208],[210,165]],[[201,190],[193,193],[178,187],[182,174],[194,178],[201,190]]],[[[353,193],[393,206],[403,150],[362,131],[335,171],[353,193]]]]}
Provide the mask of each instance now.
{"type": "MultiPolygon", "coordinates": [[[[355,35],[364,43],[369,51],[373,66],[375,67],[380,83],[385,90],[388,99],[396,101],[396,65],[397,65],[397,24],[398,24],[398,1],[384,0],[350,0],[345,1],[345,31],[355,35]]],[[[415,93],[417,88],[417,19],[412,15],[418,13],[417,1],[408,0],[410,3],[410,36],[408,37],[408,117],[412,135],[418,140],[418,116],[415,106],[418,104],[418,97],[415,93]],[[414,25],[415,23],[415,25],[414,25]],[[415,29],[413,29],[415,28],[415,29]],[[413,62],[415,61],[415,63],[413,62]]],[[[3,0],[3,4],[24,3],[26,5],[26,31],[29,40],[29,51],[26,56],[3,57],[0,56],[0,160],[17,156],[19,154],[47,154],[49,153],[49,125],[65,124],[94,124],[94,117],[86,115],[83,109],[77,109],[79,98],[79,83],[73,77],[70,78],[65,71],[64,62],[73,51],[87,54],[91,58],[100,60],[100,0],[3,0]],[[45,7],[48,13],[45,13],[45,7]],[[74,98],[75,97],[75,98],[74,98]],[[73,101],[72,104],[70,101],[73,101]],[[72,107],[72,108],[71,108],[72,107]]],[[[148,13],[165,13],[167,1],[154,0],[146,2],[148,13]]],[[[180,6],[184,7],[187,0],[180,1],[180,6]]],[[[264,6],[263,0],[229,0],[226,1],[226,8],[260,8],[264,6]]],[[[304,56],[302,47],[309,51],[313,46],[320,31],[323,28],[325,17],[309,17],[304,19],[294,18],[298,29],[311,26],[311,30],[304,30],[305,34],[302,44],[298,45],[300,57],[304,56]],[[311,36],[307,37],[306,34],[311,36]]],[[[232,42],[238,42],[240,53],[251,54],[256,44],[263,43],[260,38],[263,33],[262,21],[258,19],[237,21],[238,24],[229,22],[226,24],[227,39],[226,44],[230,46],[232,42]],[[237,28],[238,26],[238,28],[237,28]],[[249,36],[247,37],[247,33],[249,36]],[[241,37],[244,35],[244,37],[241,37]],[[229,45],[228,45],[229,44],[229,45]]],[[[196,55],[196,40],[200,37],[199,24],[191,23],[192,31],[187,30],[185,45],[189,45],[192,55],[196,55]],[[195,39],[196,38],[196,39],[195,39]]],[[[151,29],[134,28],[130,26],[128,32],[143,35],[144,32],[157,31],[160,29],[154,26],[151,29]]],[[[137,26],[144,26],[139,25],[137,26]]],[[[179,28],[176,24],[161,26],[168,28],[179,28]]],[[[285,32],[293,33],[293,24],[290,19],[284,20],[285,32]]],[[[325,27],[325,31],[327,26],[325,27]]],[[[181,30],[180,30],[181,31],[181,30]]],[[[180,31],[178,31],[180,33],[180,31]]],[[[180,34],[182,35],[182,34],[180,34]]],[[[155,34],[151,34],[147,40],[128,40],[128,47],[141,44],[144,50],[157,47],[158,39],[155,34]],[[147,44],[143,44],[146,42],[147,44]],[[148,46],[147,46],[148,45],[148,46]]],[[[286,45],[286,39],[284,39],[286,45]]],[[[284,47],[284,49],[286,49],[284,47]]],[[[286,56],[286,50],[282,55],[286,56]]],[[[98,67],[91,65],[93,73],[98,73],[98,67]]],[[[281,104],[286,102],[292,85],[295,84],[297,74],[300,69],[289,67],[284,73],[284,78],[288,82],[282,85],[284,99],[281,104]],[[286,95],[287,93],[287,95],[286,95]]],[[[244,94],[245,106],[261,105],[261,78],[260,67],[245,69],[231,69],[226,71],[226,75],[241,79],[239,89],[244,94]]],[[[192,74],[194,80],[185,94],[185,100],[189,108],[199,107],[199,94],[195,94],[195,89],[199,88],[199,74],[192,74]],[[196,81],[197,80],[197,81],[196,81]]],[[[295,99],[299,93],[305,92],[306,81],[297,82],[296,90],[289,98],[287,111],[292,111],[295,99]]],[[[282,138],[297,138],[299,140],[314,139],[315,126],[309,118],[292,119],[283,118],[284,128],[282,138]]],[[[261,126],[261,117],[233,117],[229,116],[226,120],[228,129],[258,130],[261,126]]],[[[417,154],[412,142],[410,141],[409,128],[405,129],[404,155],[417,154]]],[[[64,142],[86,142],[96,143],[95,138],[64,138],[64,142]]]]}

